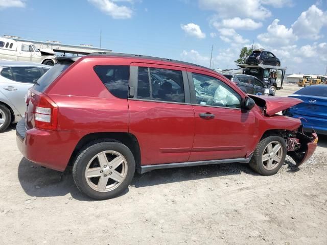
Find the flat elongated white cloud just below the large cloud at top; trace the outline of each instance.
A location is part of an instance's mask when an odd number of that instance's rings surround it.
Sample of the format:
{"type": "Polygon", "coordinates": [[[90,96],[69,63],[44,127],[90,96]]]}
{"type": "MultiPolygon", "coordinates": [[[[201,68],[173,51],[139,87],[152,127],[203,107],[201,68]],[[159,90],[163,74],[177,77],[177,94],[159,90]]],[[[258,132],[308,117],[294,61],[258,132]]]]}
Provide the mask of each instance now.
{"type": "Polygon", "coordinates": [[[250,18],[241,19],[240,17],[223,19],[220,22],[212,21],[211,24],[216,28],[232,28],[243,30],[255,30],[262,27],[261,22],[255,22],[250,18]]]}

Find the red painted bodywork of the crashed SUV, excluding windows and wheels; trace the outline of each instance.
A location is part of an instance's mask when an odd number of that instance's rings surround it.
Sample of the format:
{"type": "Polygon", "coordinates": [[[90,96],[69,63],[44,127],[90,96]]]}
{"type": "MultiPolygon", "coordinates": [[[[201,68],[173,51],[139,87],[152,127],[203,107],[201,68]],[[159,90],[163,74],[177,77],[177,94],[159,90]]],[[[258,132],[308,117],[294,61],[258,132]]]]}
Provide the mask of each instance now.
{"type": "MultiPolygon", "coordinates": [[[[225,77],[200,67],[139,58],[86,56],[69,66],[44,92],[58,106],[57,130],[35,128],[32,115],[35,100],[30,99],[25,139],[17,137],[22,154],[33,162],[63,171],[85,135],[123,132],[136,137],[142,165],[246,158],[267,130],[293,131],[300,126],[298,119],[266,116],[259,106],[245,112],[222,107],[118,99],[94,71],[96,65],[132,63],[216,77],[243,99],[247,96],[225,77]],[[199,113],[206,112],[215,114],[215,118],[199,117],[199,113]]],[[[38,92],[34,93],[38,96],[38,92]]],[[[269,114],[287,103],[290,101],[275,101],[277,106],[274,106],[274,102],[267,102],[269,114]]],[[[313,147],[308,144],[309,157],[313,147]]]]}

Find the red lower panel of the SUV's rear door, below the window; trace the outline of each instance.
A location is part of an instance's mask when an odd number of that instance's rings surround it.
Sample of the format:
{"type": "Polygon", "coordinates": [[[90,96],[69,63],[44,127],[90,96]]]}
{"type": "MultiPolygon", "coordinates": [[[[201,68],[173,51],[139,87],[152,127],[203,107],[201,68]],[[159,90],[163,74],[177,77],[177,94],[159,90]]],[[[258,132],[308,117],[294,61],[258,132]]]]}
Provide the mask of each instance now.
{"type": "Polygon", "coordinates": [[[129,100],[129,132],[138,140],[142,165],[187,162],[194,137],[191,105],[129,100]]]}

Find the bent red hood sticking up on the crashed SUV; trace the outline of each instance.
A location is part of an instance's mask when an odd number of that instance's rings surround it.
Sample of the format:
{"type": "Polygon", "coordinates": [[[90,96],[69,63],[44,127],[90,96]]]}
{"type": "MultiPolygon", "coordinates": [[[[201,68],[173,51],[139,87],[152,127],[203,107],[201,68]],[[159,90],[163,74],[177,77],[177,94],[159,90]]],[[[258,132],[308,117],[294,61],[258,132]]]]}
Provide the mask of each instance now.
{"type": "Polygon", "coordinates": [[[302,103],[300,99],[289,97],[248,95],[254,100],[256,105],[262,107],[263,111],[268,116],[272,116],[279,111],[286,110],[292,106],[302,103]]]}

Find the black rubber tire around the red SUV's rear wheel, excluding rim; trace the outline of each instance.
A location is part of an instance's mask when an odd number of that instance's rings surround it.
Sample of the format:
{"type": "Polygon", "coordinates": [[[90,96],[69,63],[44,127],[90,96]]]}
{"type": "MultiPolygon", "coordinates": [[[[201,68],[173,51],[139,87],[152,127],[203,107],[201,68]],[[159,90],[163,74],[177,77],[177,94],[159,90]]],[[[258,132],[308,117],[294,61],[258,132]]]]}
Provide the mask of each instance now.
{"type": "Polygon", "coordinates": [[[75,184],[81,192],[86,194],[88,197],[97,200],[105,200],[114,198],[123,192],[133,179],[135,173],[135,160],[132,152],[127,148],[126,145],[119,142],[95,142],[89,145],[86,149],[82,150],[77,157],[73,167],[73,178],[75,184]],[[127,161],[127,176],[120,186],[112,191],[98,192],[92,189],[86,182],[85,170],[88,162],[92,157],[103,151],[116,151],[121,153],[127,161]]]}

